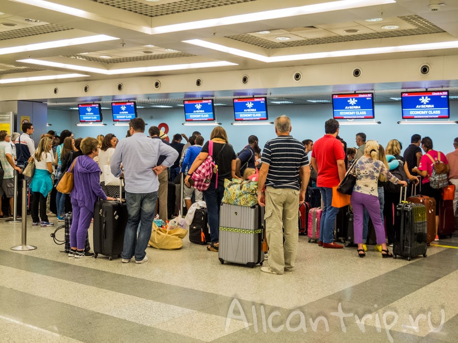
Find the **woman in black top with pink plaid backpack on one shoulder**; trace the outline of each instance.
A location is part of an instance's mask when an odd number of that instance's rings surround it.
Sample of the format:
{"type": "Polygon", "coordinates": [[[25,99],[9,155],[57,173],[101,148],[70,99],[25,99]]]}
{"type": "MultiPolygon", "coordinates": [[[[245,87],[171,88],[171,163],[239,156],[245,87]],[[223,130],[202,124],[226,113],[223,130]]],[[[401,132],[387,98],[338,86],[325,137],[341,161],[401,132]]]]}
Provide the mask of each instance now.
{"type": "MultiPolygon", "coordinates": [[[[214,173],[208,190],[204,191],[204,200],[207,204],[208,225],[210,227],[211,244],[208,251],[217,252],[219,248],[219,208],[224,194],[224,179],[236,178],[236,153],[227,140],[226,131],[217,126],[213,129],[210,140],[213,142],[213,159],[218,166],[218,178],[214,173]]],[[[188,170],[185,185],[190,187],[189,179],[198,166],[205,161],[209,154],[209,141],[204,144],[188,170]]]]}

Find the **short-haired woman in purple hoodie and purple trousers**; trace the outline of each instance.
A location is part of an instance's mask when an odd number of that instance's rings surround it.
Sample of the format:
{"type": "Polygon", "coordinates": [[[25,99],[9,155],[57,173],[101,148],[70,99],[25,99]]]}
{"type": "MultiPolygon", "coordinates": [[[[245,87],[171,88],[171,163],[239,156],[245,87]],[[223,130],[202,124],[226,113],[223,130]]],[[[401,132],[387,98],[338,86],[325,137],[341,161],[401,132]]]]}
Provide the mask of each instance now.
{"type": "Polygon", "coordinates": [[[70,193],[73,221],[70,228],[71,251],[68,253],[69,257],[94,256],[94,253],[84,251],[86,235],[94,215],[94,205],[98,199],[115,200],[115,198],[107,197],[100,186],[100,167],[94,161],[99,154],[97,145],[95,138],[84,138],[80,145],[83,155],[77,157],[74,162],[74,186],[70,193]]]}

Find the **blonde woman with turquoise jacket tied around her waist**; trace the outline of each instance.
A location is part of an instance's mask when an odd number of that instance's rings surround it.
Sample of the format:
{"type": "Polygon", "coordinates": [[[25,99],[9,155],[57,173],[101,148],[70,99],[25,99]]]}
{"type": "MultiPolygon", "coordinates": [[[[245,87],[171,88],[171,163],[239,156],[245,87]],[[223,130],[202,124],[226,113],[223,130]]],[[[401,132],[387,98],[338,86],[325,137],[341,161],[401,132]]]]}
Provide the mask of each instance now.
{"type": "Polygon", "coordinates": [[[31,159],[34,159],[35,163],[35,173],[30,183],[31,192],[34,195],[31,207],[32,226],[54,226],[54,223],[48,221],[48,215],[46,214],[46,198],[52,190],[51,174],[53,172],[52,140],[49,137],[45,136],[40,140],[38,148],[31,159]]]}

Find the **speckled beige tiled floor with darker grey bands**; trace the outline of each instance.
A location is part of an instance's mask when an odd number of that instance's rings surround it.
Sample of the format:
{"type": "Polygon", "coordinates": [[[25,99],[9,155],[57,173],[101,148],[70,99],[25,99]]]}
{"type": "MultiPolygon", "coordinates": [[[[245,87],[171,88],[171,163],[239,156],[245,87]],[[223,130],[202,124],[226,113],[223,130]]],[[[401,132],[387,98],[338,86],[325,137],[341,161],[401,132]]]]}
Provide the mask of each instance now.
{"type": "Polygon", "coordinates": [[[179,251],[148,248],[140,265],[69,258],[50,237],[55,227],[31,224],[37,250],[15,252],[21,223],[0,222],[2,342],[456,341],[455,237],[408,262],[300,236],[296,269],[272,275],[221,265],[187,237],[179,251]]]}

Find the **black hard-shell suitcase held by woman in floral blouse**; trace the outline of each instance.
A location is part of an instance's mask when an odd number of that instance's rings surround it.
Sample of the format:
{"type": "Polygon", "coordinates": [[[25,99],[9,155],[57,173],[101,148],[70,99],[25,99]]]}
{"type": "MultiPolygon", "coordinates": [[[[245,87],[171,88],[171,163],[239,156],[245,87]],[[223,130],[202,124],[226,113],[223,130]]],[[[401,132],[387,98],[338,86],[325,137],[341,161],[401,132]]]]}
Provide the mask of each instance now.
{"type": "Polygon", "coordinates": [[[410,261],[418,255],[426,257],[426,207],[407,202],[406,195],[407,188],[402,187],[394,216],[393,257],[403,256],[410,261]],[[403,189],[404,201],[401,201],[403,189]]]}

